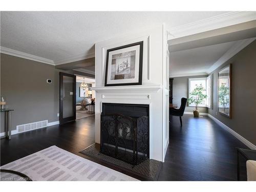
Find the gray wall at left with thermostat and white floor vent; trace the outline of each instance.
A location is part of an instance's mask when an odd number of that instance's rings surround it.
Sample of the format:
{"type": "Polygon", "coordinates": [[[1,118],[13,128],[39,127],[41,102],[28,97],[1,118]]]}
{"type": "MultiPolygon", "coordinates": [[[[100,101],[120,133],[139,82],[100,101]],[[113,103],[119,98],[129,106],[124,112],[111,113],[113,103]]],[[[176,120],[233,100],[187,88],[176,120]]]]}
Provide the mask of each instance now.
{"type": "MultiPolygon", "coordinates": [[[[1,96],[12,112],[11,129],[41,120],[58,121],[59,72],[55,66],[1,53],[1,96]],[[52,79],[52,83],[46,79],[52,79]]],[[[62,71],[71,73],[72,71],[62,71]]],[[[1,113],[1,133],[4,114],[1,113]]]]}

